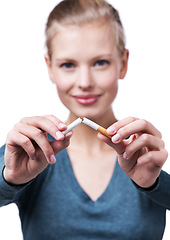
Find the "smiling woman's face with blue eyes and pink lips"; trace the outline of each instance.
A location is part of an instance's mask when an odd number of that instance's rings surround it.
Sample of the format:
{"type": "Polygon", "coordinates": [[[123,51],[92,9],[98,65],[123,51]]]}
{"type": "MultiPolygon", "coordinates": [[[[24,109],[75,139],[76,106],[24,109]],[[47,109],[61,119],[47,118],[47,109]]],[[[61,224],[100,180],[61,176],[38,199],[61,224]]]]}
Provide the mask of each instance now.
{"type": "Polygon", "coordinates": [[[128,51],[119,56],[112,25],[61,27],[51,44],[46,62],[63,104],[75,116],[95,119],[107,114],[128,61],[128,51]]]}

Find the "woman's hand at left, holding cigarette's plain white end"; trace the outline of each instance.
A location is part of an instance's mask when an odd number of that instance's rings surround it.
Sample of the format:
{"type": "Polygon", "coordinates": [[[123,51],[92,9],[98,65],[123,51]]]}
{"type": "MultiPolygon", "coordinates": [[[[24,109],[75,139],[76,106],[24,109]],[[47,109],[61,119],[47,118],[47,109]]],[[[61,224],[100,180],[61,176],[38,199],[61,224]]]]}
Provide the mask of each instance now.
{"type": "Polygon", "coordinates": [[[72,132],[61,132],[66,125],[52,115],[23,118],[7,135],[4,178],[8,183],[24,184],[40,174],[55,155],[68,147],[72,132]],[[49,133],[55,141],[47,138],[49,133]]]}

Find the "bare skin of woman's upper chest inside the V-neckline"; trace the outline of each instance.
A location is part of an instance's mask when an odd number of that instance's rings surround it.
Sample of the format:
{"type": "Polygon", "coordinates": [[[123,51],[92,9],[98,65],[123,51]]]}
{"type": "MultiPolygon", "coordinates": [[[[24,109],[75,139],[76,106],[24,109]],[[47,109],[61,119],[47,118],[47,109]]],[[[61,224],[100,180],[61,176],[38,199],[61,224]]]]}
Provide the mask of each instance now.
{"type": "Polygon", "coordinates": [[[69,157],[79,186],[92,201],[96,201],[105,192],[112,178],[116,163],[115,151],[82,154],[69,150],[69,157]]]}

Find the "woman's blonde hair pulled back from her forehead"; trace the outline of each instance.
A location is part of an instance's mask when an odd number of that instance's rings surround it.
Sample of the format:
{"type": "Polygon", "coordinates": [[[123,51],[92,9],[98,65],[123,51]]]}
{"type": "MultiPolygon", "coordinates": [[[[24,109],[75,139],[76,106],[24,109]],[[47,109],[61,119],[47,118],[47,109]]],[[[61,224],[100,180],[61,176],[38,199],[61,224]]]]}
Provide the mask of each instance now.
{"type": "Polygon", "coordinates": [[[116,44],[120,56],[125,50],[125,33],[118,11],[105,0],[63,0],[50,13],[46,24],[46,47],[51,57],[51,41],[57,33],[57,28],[66,25],[81,26],[97,20],[113,23],[116,44]]]}

